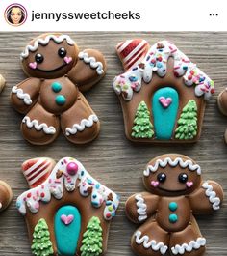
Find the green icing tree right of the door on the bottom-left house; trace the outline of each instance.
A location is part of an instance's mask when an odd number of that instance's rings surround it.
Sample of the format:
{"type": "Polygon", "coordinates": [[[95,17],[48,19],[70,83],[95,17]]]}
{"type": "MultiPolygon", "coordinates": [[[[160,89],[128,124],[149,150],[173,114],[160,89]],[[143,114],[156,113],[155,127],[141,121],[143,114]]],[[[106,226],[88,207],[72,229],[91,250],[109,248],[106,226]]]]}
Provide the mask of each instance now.
{"type": "Polygon", "coordinates": [[[81,256],[98,256],[102,253],[102,227],[98,217],[91,217],[83,234],[81,256]]]}

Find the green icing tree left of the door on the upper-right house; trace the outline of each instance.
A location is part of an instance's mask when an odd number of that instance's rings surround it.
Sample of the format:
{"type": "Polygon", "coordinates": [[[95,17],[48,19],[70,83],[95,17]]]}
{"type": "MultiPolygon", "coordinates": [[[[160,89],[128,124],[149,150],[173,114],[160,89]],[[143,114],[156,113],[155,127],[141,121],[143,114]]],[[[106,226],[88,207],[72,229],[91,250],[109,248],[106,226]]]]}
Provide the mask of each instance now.
{"type": "Polygon", "coordinates": [[[150,122],[150,111],[144,101],[139,103],[132,128],[134,138],[152,138],[154,135],[153,125],[150,122]]]}

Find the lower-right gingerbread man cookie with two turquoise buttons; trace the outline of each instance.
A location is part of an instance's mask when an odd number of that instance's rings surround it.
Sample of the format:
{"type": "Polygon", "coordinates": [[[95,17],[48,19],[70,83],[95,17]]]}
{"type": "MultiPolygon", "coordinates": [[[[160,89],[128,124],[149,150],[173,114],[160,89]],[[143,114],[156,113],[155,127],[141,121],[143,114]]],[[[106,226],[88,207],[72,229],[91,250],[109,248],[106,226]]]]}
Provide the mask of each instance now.
{"type": "Polygon", "coordinates": [[[219,210],[221,186],[204,182],[200,166],[176,154],[151,160],[143,172],[143,184],[147,191],[126,202],[128,218],[141,223],[131,240],[134,252],[139,256],[202,255],[206,239],[193,215],[219,210]]]}

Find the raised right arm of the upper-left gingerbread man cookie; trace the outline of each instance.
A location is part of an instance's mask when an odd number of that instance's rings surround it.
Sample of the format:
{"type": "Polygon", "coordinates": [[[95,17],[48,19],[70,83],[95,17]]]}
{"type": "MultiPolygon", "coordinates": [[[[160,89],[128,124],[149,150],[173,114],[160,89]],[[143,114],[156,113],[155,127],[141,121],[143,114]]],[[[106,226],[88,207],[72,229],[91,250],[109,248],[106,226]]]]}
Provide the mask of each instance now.
{"type": "Polygon", "coordinates": [[[103,54],[94,49],[86,49],[79,52],[78,61],[68,72],[68,77],[81,92],[86,92],[105,75],[106,70],[103,54]]]}

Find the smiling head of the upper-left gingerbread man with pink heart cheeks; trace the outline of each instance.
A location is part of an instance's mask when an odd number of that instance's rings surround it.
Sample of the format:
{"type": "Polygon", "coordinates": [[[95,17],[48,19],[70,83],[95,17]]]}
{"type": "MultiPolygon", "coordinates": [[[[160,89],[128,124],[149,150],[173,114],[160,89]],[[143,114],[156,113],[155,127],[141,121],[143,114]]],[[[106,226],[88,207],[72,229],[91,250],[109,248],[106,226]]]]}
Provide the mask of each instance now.
{"type": "Polygon", "coordinates": [[[78,47],[67,35],[44,34],[21,53],[23,70],[38,78],[63,76],[76,64],[78,47]]]}

